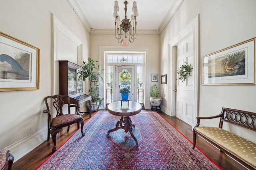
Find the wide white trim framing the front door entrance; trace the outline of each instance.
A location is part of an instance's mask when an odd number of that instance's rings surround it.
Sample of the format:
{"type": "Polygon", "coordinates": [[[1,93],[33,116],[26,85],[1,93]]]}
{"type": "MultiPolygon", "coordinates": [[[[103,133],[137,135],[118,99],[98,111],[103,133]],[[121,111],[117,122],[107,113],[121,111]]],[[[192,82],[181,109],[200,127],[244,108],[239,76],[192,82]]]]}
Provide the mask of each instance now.
{"type": "MultiPolygon", "coordinates": [[[[105,54],[111,53],[111,52],[144,52],[145,53],[145,60],[144,60],[144,67],[145,67],[145,76],[144,76],[144,82],[145,82],[145,92],[149,92],[150,90],[150,47],[112,47],[112,46],[100,46],[100,69],[104,69],[105,67],[105,54]]],[[[105,70],[104,70],[104,76],[105,77],[105,70]]],[[[105,96],[105,83],[100,81],[100,95],[105,96]]],[[[149,102],[149,93],[145,93],[145,108],[150,108],[150,102],[149,102]],[[148,99],[148,100],[147,100],[148,99]]],[[[104,101],[104,105],[106,106],[106,103],[104,101]]]]}

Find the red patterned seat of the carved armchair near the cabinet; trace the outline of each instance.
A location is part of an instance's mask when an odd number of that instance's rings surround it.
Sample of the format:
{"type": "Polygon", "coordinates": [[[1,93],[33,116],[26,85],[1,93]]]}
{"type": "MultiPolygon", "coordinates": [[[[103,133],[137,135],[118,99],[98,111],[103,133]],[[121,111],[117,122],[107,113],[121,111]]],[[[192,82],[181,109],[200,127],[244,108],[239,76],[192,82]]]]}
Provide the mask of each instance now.
{"type": "Polygon", "coordinates": [[[58,125],[63,125],[64,123],[71,123],[81,118],[82,116],[74,114],[65,114],[57,116],[52,119],[52,127],[57,127],[58,125]]]}

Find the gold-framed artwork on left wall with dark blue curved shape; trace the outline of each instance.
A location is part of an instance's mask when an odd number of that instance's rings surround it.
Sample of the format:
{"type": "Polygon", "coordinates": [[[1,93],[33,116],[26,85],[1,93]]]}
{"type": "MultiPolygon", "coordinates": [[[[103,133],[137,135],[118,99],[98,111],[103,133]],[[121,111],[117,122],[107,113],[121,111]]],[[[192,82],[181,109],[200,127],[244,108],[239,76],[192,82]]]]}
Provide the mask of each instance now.
{"type": "Polygon", "coordinates": [[[0,91],[39,89],[40,49],[0,32],[0,91]]]}

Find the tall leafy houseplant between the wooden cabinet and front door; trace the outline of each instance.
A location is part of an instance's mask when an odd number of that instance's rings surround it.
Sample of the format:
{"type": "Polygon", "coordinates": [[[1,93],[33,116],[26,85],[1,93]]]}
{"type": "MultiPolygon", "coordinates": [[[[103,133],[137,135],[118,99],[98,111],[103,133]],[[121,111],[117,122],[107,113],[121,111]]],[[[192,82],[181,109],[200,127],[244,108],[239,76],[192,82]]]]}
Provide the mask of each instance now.
{"type": "Polygon", "coordinates": [[[89,96],[92,97],[92,111],[97,111],[98,107],[103,104],[104,98],[100,98],[99,94],[99,85],[98,77],[103,80],[103,77],[100,75],[100,65],[97,64],[98,61],[95,61],[88,57],[88,62],[83,61],[83,80],[89,78],[90,88],[88,89],[89,96]]]}

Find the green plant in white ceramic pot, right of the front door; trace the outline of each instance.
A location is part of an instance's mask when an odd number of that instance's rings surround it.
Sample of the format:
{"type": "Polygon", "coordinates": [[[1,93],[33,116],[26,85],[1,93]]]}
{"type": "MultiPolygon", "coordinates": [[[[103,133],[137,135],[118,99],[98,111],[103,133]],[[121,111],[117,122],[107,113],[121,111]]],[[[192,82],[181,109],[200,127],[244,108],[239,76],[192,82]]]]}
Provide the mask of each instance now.
{"type": "Polygon", "coordinates": [[[156,84],[153,84],[150,87],[150,98],[149,98],[150,104],[151,104],[151,110],[154,108],[156,110],[161,110],[160,105],[162,102],[162,97],[160,97],[159,88],[156,86],[156,84]]]}

